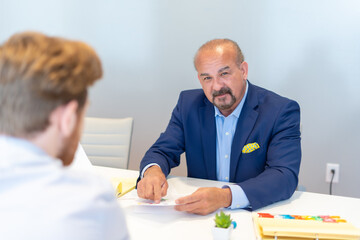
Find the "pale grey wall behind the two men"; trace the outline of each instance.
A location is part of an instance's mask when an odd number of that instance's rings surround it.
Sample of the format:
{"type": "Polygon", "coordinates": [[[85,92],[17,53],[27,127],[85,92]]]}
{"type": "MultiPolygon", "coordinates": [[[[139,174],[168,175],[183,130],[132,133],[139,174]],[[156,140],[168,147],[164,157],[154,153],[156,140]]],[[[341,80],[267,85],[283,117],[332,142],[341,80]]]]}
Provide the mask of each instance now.
{"type": "Polygon", "coordinates": [[[96,48],[105,75],[88,116],[135,118],[130,169],[165,129],[179,92],[200,87],[196,49],[237,41],[249,80],[301,105],[300,184],[328,193],[326,163],[339,163],[333,192],[360,197],[360,1],[0,0],[0,41],[28,29],[96,48]]]}

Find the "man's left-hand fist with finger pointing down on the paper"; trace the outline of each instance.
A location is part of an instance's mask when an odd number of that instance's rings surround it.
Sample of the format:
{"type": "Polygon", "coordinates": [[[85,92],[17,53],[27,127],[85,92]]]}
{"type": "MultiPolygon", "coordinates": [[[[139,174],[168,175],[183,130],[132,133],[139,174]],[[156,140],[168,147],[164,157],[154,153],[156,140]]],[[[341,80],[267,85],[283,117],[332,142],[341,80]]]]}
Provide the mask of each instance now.
{"type": "Polygon", "coordinates": [[[138,196],[145,199],[154,200],[160,203],[161,197],[165,196],[168,189],[166,177],[159,166],[149,167],[143,179],[137,185],[138,196]]]}

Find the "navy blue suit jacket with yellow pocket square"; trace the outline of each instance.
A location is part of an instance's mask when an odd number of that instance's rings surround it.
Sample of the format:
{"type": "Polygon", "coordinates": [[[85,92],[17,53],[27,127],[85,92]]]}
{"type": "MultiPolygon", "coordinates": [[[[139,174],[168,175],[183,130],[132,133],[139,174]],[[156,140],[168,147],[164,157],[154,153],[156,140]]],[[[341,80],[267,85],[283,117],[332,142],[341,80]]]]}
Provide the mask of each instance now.
{"type": "MultiPolygon", "coordinates": [[[[168,127],[146,152],[140,171],[157,163],[167,176],[183,152],[189,177],[217,180],[215,110],[202,89],[180,93],[168,127]]],[[[255,210],[291,197],[300,160],[299,105],[249,83],[231,146],[230,182],[241,186],[255,210]],[[259,149],[242,153],[254,142],[259,149]]]]}

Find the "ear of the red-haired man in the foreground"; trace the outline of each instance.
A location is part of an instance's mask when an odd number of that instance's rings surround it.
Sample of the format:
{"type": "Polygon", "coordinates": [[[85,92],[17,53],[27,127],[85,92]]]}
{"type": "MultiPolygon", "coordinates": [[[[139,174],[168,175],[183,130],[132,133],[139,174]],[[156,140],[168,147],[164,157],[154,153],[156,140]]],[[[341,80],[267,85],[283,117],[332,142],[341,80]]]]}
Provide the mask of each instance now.
{"type": "Polygon", "coordinates": [[[78,118],[78,102],[75,100],[70,101],[65,106],[63,106],[63,111],[60,118],[60,129],[62,134],[65,137],[71,136],[76,127],[76,122],[78,118]]]}

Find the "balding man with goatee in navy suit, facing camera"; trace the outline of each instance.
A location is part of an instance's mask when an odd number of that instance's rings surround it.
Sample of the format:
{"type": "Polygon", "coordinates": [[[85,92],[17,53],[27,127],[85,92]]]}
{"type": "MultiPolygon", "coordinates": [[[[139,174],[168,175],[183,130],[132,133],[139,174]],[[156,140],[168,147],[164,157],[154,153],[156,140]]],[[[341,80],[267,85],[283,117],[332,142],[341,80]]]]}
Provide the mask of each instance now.
{"type": "Polygon", "coordinates": [[[202,89],[181,92],[168,127],[141,161],[139,197],[160,202],[183,152],[189,177],[224,186],[177,199],[178,211],[256,210],[291,197],[301,161],[299,105],[251,84],[232,40],[205,43],[194,64],[202,89]]]}

